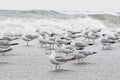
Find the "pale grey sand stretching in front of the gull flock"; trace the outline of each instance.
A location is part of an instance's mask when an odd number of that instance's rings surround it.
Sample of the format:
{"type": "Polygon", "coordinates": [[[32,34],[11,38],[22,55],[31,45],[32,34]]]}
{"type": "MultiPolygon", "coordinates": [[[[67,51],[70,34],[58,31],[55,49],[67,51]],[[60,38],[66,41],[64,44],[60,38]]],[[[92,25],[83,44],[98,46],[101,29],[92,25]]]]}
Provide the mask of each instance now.
{"type": "Polygon", "coordinates": [[[55,71],[38,40],[30,46],[22,40],[14,50],[0,55],[0,80],[119,80],[120,79],[120,43],[112,45],[111,50],[102,50],[100,40],[86,48],[98,53],[84,59],[67,62],[62,70],[55,71]]]}

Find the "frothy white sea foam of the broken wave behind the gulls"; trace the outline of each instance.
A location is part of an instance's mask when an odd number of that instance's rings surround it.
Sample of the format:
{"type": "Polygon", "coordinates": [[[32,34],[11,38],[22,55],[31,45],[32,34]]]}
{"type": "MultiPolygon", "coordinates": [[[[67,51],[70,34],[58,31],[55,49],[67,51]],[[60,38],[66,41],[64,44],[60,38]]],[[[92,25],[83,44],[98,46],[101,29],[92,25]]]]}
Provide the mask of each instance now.
{"type": "Polygon", "coordinates": [[[86,27],[106,28],[100,21],[94,20],[90,17],[75,19],[8,18],[4,21],[0,20],[1,34],[33,33],[38,28],[50,32],[60,32],[62,29],[79,31],[86,27]]]}

